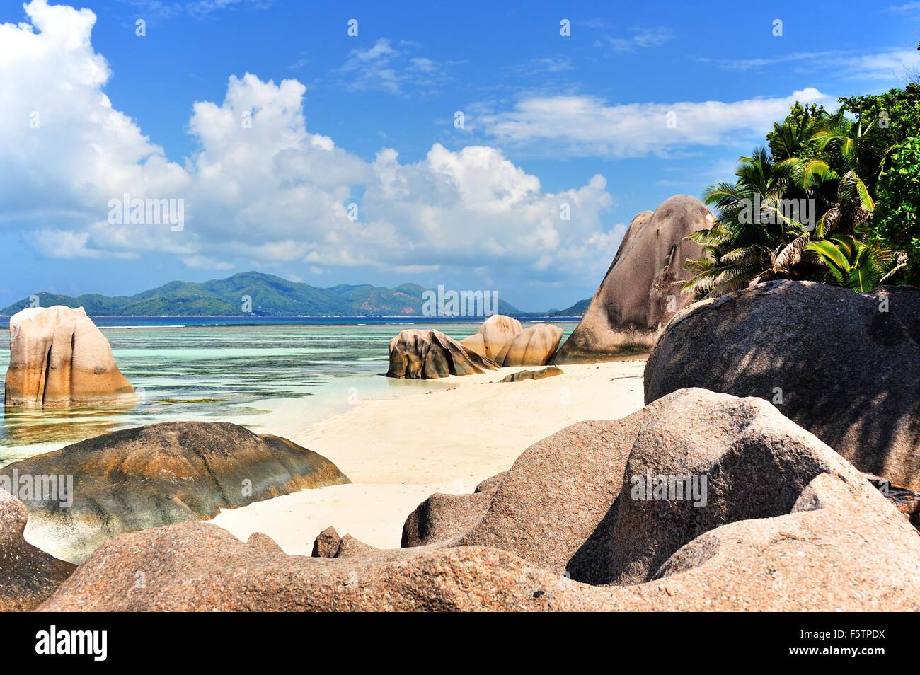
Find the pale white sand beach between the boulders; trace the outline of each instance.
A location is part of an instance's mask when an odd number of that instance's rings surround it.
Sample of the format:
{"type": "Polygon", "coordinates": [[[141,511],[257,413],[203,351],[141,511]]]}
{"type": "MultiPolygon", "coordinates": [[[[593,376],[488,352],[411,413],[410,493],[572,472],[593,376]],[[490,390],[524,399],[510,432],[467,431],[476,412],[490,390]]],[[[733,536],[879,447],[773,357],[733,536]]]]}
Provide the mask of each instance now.
{"type": "Polygon", "coordinates": [[[289,554],[310,555],[329,525],[374,546],[398,547],[406,517],[431,493],[472,492],[569,424],[638,410],[644,368],[638,358],[566,365],[556,377],[501,383],[525,370],[503,368],[445,378],[435,391],[362,401],[306,429],[292,419],[288,429],[266,430],[328,457],[353,485],[224,509],[210,522],[244,541],[265,532],[289,554]]]}

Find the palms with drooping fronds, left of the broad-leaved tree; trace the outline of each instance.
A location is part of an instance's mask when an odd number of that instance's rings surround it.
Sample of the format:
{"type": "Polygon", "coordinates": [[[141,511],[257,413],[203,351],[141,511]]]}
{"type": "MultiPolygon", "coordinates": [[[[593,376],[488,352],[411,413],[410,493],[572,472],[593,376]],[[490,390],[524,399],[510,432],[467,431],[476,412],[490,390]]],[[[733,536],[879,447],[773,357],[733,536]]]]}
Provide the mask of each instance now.
{"type": "Polygon", "coordinates": [[[868,230],[873,188],[890,152],[874,126],[845,119],[843,110],[793,106],[768,134],[769,151],[742,157],[735,183],[704,191],[717,221],[688,237],[703,256],[686,261],[693,277],[684,292],[714,297],[777,278],[866,289],[901,269],[900,254],[856,238],[868,230]],[[871,171],[868,182],[863,168],[871,171]],[[790,213],[788,206],[799,208],[790,213]]]}

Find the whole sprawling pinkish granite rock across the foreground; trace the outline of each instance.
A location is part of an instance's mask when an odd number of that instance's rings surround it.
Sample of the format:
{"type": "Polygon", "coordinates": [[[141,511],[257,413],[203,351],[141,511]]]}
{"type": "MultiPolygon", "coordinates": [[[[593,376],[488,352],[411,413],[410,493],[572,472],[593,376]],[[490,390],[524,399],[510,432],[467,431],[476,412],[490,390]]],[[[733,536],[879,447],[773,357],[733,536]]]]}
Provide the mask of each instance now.
{"type": "Polygon", "coordinates": [[[459,542],[393,551],[282,555],[197,522],[125,534],[41,609],[920,610],[914,528],[757,398],[684,390],[581,422],[489,486],[489,511],[459,542]],[[703,474],[699,508],[634,491],[635,475],[703,474]],[[143,570],[145,587],[125,569],[143,570]],[[584,583],[612,580],[626,585],[584,583]]]}

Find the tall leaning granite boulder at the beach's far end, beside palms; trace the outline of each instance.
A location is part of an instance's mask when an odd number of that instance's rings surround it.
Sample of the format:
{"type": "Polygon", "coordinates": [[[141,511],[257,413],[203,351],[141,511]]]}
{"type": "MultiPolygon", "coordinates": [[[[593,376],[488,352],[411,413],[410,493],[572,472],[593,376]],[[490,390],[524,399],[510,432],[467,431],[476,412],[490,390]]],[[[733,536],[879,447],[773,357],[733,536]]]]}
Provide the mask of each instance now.
{"type": "Polygon", "coordinates": [[[702,202],[689,195],[661,202],[654,213],[638,213],[581,322],[553,362],[648,352],[661,327],[691,302],[681,294],[681,283],[690,279],[684,262],[699,257],[702,248],[686,236],[713,222],[702,202]]]}

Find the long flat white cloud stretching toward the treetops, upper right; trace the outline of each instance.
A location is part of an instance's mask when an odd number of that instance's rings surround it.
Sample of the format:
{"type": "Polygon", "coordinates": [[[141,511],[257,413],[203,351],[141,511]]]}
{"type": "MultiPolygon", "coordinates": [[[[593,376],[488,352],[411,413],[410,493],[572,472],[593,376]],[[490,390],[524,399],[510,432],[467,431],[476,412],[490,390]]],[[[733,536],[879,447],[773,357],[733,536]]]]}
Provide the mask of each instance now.
{"type": "Polygon", "coordinates": [[[486,112],[477,122],[503,143],[539,143],[544,153],[556,156],[669,156],[695,146],[762,139],[797,100],[828,105],[834,101],[811,87],[788,97],[728,103],[609,104],[591,96],[529,97],[511,110],[486,112]]]}

